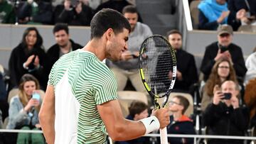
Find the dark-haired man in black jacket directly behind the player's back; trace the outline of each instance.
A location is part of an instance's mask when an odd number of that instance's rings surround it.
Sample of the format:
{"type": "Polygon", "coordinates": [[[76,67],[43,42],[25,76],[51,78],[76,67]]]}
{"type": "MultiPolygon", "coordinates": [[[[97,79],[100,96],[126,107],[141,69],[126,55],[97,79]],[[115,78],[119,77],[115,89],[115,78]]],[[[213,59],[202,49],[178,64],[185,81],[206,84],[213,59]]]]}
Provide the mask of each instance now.
{"type": "Polygon", "coordinates": [[[81,45],[70,39],[68,25],[65,23],[56,23],[53,28],[53,35],[56,44],[51,46],[46,52],[48,64],[47,75],[50,73],[53,64],[64,54],[82,48],[81,45]]]}

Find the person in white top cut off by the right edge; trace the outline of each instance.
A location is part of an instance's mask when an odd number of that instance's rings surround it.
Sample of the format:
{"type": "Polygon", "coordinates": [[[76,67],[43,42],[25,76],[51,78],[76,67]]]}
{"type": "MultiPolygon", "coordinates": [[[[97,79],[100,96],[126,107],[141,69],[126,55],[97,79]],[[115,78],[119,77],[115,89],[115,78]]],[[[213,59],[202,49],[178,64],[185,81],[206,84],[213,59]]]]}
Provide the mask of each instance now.
{"type": "Polygon", "coordinates": [[[245,84],[247,84],[250,79],[254,79],[256,77],[256,47],[255,52],[247,57],[245,66],[247,68],[247,72],[245,74],[245,84]]]}

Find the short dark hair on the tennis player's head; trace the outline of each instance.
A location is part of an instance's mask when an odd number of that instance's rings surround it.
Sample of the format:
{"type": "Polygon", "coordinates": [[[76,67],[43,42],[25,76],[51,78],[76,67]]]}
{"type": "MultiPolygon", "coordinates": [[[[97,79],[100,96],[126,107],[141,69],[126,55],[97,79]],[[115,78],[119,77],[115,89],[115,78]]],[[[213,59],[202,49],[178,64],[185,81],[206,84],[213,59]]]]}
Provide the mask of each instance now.
{"type": "Polygon", "coordinates": [[[112,28],[114,33],[121,33],[124,28],[131,31],[131,26],[122,13],[113,9],[102,9],[93,16],[90,23],[91,40],[101,38],[108,28],[112,28]]]}

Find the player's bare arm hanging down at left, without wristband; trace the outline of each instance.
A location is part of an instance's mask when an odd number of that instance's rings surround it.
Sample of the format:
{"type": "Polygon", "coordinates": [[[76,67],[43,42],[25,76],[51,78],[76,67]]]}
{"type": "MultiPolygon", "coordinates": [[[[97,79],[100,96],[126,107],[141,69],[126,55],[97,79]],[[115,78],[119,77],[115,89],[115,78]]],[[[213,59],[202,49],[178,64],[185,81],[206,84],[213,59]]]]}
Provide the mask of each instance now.
{"type": "Polygon", "coordinates": [[[55,140],[55,96],[54,87],[48,85],[46,89],[46,96],[43,98],[43,104],[39,112],[39,121],[43,130],[43,135],[48,144],[54,144],[55,140]]]}

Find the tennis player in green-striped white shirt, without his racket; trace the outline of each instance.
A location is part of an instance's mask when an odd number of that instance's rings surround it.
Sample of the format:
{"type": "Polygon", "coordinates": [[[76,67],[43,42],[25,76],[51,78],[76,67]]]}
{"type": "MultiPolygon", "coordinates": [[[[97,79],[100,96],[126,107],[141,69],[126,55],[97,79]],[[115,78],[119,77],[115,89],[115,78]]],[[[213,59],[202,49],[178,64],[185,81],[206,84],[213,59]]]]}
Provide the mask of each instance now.
{"type": "Polygon", "coordinates": [[[120,60],[127,50],[131,27],[121,13],[102,9],[90,23],[91,38],[84,48],[55,62],[39,113],[48,144],[106,143],[130,140],[169,124],[168,109],[153,111],[140,121],[124,119],[117,100],[114,74],[102,63],[120,60]]]}

